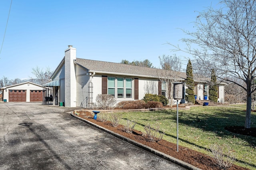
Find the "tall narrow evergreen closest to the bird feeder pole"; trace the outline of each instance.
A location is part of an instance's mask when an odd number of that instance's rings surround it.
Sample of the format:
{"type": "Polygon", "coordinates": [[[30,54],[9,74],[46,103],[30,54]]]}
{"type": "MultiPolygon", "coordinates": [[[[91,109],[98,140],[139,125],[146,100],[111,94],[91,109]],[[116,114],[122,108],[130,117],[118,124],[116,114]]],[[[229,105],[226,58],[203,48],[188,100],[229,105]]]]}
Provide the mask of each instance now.
{"type": "Polygon", "coordinates": [[[194,76],[193,76],[193,70],[192,70],[192,64],[191,61],[188,60],[187,70],[186,70],[186,86],[188,87],[186,89],[186,96],[185,100],[188,103],[195,104],[195,97],[194,97],[194,76]]]}

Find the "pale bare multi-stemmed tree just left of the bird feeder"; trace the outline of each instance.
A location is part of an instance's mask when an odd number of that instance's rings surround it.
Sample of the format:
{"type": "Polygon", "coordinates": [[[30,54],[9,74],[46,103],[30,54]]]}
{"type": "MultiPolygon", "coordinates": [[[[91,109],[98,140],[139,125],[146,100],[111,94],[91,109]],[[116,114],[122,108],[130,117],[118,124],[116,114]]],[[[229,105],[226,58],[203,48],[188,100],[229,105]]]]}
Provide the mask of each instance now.
{"type": "Polygon", "coordinates": [[[173,83],[178,81],[178,72],[181,70],[181,60],[176,55],[162,55],[158,57],[160,60],[160,65],[164,72],[161,72],[159,75],[159,80],[164,84],[166,90],[166,96],[169,100],[169,105],[172,107],[173,100],[173,83]]]}

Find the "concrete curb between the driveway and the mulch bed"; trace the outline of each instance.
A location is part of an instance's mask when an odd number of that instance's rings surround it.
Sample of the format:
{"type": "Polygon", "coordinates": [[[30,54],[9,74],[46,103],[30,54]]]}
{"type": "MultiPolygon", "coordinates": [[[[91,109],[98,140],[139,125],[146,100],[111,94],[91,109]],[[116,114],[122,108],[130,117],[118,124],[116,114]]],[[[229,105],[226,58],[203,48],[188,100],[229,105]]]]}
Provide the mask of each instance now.
{"type": "Polygon", "coordinates": [[[92,126],[94,126],[94,127],[97,127],[98,129],[101,129],[101,130],[103,130],[103,131],[106,131],[106,132],[110,133],[111,135],[114,135],[115,137],[118,137],[118,138],[120,138],[120,139],[122,139],[122,140],[124,140],[124,141],[127,141],[127,142],[129,142],[129,143],[131,143],[131,144],[133,144],[133,145],[135,145],[135,146],[137,146],[137,147],[140,147],[141,149],[147,150],[148,152],[151,152],[151,153],[153,153],[153,154],[155,154],[155,155],[157,155],[157,156],[160,156],[160,157],[162,157],[162,158],[164,158],[164,159],[166,159],[166,160],[168,160],[168,161],[170,161],[170,162],[173,162],[173,163],[175,163],[175,164],[177,164],[177,165],[179,165],[179,166],[182,166],[182,167],[184,167],[184,168],[186,168],[186,169],[188,169],[188,170],[202,170],[202,169],[197,168],[196,166],[190,165],[190,164],[188,164],[188,163],[186,163],[186,162],[184,162],[184,161],[182,161],[182,160],[179,160],[179,159],[177,159],[177,158],[174,158],[174,157],[172,157],[172,156],[169,156],[168,154],[165,154],[165,153],[160,152],[160,151],[158,151],[158,150],[152,149],[152,148],[150,148],[150,147],[148,147],[148,146],[146,146],[146,145],[143,145],[143,144],[138,143],[138,142],[136,142],[136,141],[134,141],[134,140],[131,140],[131,139],[127,138],[127,137],[124,137],[124,136],[122,136],[122,135],[119,135],[118,133],[114,133],[114,132],[112,132],[112,131],[110,131],[110,130],[104,128],[104,127],[101,127],[101,126],[95,124],[95,123],[92,123],[92,122],[90,122],[90,121],[87,121],[86,119],[83,119],[83,118],[81,118],[81,117],[78,117],[78,116],[74,115],[73,112],[70,112],[70,115],[73,116],[73,117],[75,117],[76,119],[79,119],[79,120],[81,120],[81,121],[84,121],[85,123],[88,123],[88,124],[90,124],[90,125],[92,125],[92,126]]]}

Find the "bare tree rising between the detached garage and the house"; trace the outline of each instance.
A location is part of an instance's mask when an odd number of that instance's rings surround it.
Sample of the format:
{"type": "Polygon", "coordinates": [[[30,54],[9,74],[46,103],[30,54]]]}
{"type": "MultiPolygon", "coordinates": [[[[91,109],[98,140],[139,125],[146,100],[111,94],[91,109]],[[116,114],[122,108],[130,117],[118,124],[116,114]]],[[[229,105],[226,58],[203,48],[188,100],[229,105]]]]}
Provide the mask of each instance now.
{"type": "Polygon", "coordinates": [[[50,82],[50,78],[52,76],[52,71],[50,70],[49,67],[46,68],[45,72],[43,72],[43,68],[39,68],[38,66],[36,66],[36,68],[32,68],[32,74],[34,74],[34,76],[36,76],[35,78],[30,77],[34,82],[36,82],[37,84],[43,85],[46,84],[48,82],[50,82]]]}

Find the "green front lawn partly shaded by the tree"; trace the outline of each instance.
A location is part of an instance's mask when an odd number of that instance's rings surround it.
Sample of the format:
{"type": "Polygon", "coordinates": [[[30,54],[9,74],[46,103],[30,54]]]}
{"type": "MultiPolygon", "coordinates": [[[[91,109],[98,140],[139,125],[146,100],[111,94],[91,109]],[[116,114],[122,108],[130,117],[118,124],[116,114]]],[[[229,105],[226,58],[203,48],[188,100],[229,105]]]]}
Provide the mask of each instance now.
{"type": "MultiPolygon", "coordinates": [[[[210,155],[212,144],[226,144],[233,151],[235,164],[256,170],[256,138],[226,131],[226,126],[244,126],[245,104],[197,106],[179,109],[179,145],[210,155]]],[[[144,125],[159,124],[164,139],[176,143],[176,110],[123,112],[123,119],[136,121],[134,129],[144,132],[144,125]]],[[[122,123],[121,123],[122,124],[122,123]]],[[[256,127],[256,112],[251,114],[251,127],[256,127]]]]}

